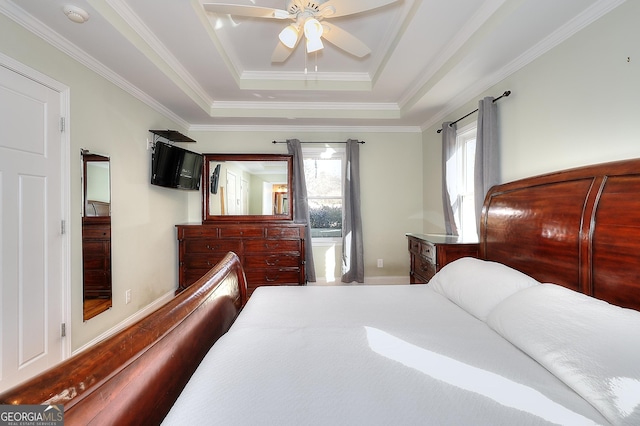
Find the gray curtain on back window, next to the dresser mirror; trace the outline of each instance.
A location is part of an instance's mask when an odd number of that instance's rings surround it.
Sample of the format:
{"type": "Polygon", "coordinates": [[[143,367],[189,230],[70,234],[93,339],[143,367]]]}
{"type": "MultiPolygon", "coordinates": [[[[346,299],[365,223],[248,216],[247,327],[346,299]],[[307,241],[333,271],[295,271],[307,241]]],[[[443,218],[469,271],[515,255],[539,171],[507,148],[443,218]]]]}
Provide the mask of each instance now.
{"type": "Polygon", "coordinates": [[[287,149],[293,155],[293,221],[304,223],[305,272],[308,282],[316,282],[316,268],[313,264],[311,247],[311,220],[309,219],[309,203],[307,201],[307,183],[304,179],[304,157],[298,139],[288,139],[287,149]]]}

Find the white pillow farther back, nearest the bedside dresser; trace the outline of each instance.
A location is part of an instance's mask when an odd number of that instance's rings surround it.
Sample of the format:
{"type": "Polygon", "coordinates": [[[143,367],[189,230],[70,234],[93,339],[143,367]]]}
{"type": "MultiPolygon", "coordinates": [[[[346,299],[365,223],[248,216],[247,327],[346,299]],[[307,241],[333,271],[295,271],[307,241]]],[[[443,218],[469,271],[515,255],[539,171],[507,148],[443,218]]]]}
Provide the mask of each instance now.
{"type": "Polygon", "coordinates": [[[472,257],[445,265],[429,281],[436,292],[483,321],[498,303],[536,284],[540,283],[506,265],[472,257]]]}

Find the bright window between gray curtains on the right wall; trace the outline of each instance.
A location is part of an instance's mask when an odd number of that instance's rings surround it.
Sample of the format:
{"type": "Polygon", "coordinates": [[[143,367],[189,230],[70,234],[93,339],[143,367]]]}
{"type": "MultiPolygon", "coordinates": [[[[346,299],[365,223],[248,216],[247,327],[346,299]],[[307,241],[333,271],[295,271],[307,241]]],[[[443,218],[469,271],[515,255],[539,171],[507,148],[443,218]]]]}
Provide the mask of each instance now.
{"type": "Polygon", "coordinates": [[[454,155],[455,182],[453,214],[458,233],[464,239],[478,237],[474,201],[473,172],[476,154],[477,125],[475,123],[458,130],[456,134],[456,154],[454,155]]]}

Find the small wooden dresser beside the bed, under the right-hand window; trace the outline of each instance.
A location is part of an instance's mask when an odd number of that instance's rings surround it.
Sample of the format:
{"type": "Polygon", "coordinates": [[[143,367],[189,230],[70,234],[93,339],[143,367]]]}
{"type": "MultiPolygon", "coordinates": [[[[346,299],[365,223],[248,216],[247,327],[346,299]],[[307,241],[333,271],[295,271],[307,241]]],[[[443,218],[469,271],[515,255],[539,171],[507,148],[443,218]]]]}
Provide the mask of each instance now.
{"type": "Polygon", "coordinates": [[[411,284],[428,283],[444,265],[461,257],[478,257],[478,242],[456,235],[407,234],[411,284]]]}

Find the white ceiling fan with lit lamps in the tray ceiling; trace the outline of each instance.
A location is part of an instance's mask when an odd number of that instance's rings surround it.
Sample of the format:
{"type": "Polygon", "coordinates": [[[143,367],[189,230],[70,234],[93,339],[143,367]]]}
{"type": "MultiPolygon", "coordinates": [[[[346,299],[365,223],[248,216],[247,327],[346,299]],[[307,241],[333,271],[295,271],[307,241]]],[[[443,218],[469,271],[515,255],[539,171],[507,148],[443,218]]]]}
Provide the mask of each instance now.
{"type": "Polygon", "coordinates": [[[272,62],[284,62],[303,35],[308,53],[322,49],[322,39],[325,39],[358,58],[367,56],[371,50],[366,44],[325,19],[353,15],[397,1],[399,0],[287,0],[285,10],[228,3],[203,3],[202,6],[207,12],[216,14],[294,21],[280,32],[280,42],[271,55],[272,62]]]}

